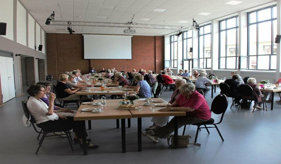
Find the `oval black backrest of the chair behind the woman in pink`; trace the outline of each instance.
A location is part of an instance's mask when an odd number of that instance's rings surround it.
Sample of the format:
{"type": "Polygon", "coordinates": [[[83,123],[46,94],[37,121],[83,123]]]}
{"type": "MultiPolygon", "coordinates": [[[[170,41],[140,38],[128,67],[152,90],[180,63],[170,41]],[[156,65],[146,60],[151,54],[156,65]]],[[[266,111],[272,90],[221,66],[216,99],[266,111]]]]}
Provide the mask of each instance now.
{"type": "Polygon", "coordinates": [[[226,95],[219,94],[213,99],[211,105],[211,112],[213,112],[214,114],[222,114],[220,121],[216,124],[222,122],[222,118],[224,113],[226,112],[227,107],[228,107],[228,100],[226,95]]]}

